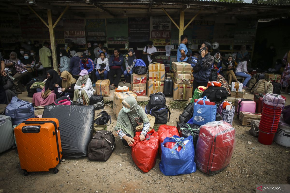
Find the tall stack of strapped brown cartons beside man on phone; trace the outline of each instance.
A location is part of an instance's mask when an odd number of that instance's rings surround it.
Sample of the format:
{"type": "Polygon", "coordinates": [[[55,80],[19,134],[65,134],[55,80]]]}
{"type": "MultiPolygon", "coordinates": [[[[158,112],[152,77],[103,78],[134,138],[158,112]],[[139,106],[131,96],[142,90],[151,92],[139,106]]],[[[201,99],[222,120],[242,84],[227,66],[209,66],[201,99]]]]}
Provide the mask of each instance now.
{"type": "Polygon", "coordinates": [[[172,70],[174,73],[173,99],[189,100],[192,95],[191,81],[193,82],[191,65],[185,62],[173,62],[172,70]]]}

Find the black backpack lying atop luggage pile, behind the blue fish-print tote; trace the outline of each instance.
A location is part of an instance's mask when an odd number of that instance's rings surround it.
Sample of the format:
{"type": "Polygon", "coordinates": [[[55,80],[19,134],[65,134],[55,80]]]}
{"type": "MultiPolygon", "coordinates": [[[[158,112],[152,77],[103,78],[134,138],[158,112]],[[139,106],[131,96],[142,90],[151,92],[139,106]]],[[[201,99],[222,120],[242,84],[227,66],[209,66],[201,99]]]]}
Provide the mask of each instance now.
{"type": "Polygon", "coordinates": [[[228,98],[229,92],[224,87],[208,87],[203,93],[202,97],[206,96],[210,102],[220,103],[228,98]]]}

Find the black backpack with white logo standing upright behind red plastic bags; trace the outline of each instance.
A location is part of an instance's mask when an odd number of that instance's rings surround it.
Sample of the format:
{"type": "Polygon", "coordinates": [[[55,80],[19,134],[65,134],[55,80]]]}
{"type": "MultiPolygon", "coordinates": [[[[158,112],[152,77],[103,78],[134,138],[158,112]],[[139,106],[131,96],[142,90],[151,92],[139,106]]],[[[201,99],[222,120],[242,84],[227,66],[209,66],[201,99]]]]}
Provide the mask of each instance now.
{"type": "Polygon", "coordinates": [[[153,93],[149,97],[149,102],[145,106],[145,113],[155,117],[155,124],[166,124],[168,121],[170,121],[171,113],[165,104],[166,99],[164,93],[153,93]]]}

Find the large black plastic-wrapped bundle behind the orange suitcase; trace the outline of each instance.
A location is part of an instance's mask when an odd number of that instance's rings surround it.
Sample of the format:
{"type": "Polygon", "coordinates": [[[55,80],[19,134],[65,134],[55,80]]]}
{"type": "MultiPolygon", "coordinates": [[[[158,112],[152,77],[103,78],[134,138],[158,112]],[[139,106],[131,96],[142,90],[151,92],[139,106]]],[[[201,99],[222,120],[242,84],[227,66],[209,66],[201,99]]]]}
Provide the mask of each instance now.
{"type": "Polygon", "coordinates": [[[45,106],[42,118],[58,119],[64,157],[79,158],[87,156],[95,118],[93,105],[45,106]]]}

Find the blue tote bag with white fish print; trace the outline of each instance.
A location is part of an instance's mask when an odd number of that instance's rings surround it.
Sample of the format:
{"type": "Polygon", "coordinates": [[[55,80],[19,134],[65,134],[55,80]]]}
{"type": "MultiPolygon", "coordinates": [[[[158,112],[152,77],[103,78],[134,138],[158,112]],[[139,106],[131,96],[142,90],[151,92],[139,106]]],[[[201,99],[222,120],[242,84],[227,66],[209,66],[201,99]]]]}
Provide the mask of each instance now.
{"type": "Polygon", "coordinates": [[[198,126],[204,125],[208,122],[215,121],[215,115],[217,112],[216,105],[206,104],[206,96],[204,98],[198,99],[194,102],[193,106],[193,117],[187,122],[190,124],[196,124],[198,126]],[[202,101],[203,104],[198,104],[202,101]]]}

